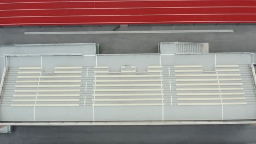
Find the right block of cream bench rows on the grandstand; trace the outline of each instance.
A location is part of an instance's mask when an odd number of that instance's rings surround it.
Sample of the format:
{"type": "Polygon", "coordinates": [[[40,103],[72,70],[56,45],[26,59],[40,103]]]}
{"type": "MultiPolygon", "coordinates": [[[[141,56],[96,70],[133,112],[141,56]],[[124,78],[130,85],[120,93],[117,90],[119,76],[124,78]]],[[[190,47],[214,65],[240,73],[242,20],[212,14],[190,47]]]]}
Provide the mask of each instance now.
{"type": "Polygon", "coordinates": [[[203,71],[201,65],[174,68],[178,105],[246,104],[239,65],[216,65],[214,71],[203,71]]]}

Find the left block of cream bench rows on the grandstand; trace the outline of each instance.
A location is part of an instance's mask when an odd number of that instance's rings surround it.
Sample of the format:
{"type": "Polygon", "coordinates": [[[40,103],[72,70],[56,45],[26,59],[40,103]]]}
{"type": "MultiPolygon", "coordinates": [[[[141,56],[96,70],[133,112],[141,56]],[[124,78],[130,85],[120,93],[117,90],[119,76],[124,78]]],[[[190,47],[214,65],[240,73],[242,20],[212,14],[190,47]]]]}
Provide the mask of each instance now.
{"type": "Polygon", "coordinates": [[[19,67],[11,106],[79,106],[82,67],[19,67]]]}

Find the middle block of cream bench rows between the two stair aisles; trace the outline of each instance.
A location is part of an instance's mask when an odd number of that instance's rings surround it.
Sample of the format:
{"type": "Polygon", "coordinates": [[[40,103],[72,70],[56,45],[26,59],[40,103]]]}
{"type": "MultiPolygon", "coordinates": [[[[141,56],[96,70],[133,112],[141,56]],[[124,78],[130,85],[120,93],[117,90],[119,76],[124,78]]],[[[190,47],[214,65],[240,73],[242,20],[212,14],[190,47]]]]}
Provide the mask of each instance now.
{"type": "Polygon", "coordinates": [[[93,106],[154,106],[164,105],[161,66],[149,66],[136,72],[123,66],[120,72],[108,67],[95,67],[93,106]]]}

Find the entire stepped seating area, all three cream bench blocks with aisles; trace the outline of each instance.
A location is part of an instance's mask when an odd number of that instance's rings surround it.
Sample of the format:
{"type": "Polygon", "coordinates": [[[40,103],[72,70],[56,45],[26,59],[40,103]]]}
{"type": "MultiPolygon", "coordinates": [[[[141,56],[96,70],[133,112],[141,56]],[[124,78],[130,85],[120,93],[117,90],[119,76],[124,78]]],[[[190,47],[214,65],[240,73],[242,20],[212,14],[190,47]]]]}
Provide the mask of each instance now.
{"type": "Polygon", "coordinates": [[[10,67],[3,103],[10,106],[245,105],[255,103],[248,65],[10,67]],[[88,72],[89,71],[89,72],[88,72]],[[11,99],[11,101],[9,101],[11,99]]]}

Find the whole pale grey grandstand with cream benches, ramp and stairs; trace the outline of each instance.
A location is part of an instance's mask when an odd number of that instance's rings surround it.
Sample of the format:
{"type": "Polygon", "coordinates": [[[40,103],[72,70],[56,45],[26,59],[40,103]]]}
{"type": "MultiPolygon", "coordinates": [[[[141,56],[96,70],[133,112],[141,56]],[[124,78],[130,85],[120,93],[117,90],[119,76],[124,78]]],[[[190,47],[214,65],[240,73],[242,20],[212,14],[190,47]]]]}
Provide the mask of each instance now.
{"type": "Polygon", "coordinates": [[[203,45],[161,43],[161,53],[137,55],[98,55],[96,44],[2,45],[0,121],[256,119],[255,53],[203,45]]]}

